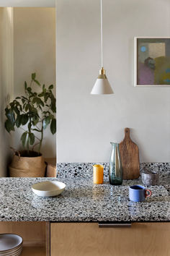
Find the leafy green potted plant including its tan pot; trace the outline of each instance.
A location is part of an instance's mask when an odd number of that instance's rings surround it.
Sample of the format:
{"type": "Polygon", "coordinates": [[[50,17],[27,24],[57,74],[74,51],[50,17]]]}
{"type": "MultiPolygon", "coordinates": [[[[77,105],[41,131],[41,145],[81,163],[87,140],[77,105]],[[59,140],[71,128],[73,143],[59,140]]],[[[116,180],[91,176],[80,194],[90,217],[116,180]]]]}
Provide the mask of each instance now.
{"type": "Polygon", "coordinates": [[[6,131],[23,131],[23,150],[14,150],[14,158],[9,166],[10,176],[45,176],[45,161],[40,153],[43,132],[49,125],[50,132],[53,135],[56,132],[56,99],[52,90],[53,85],[46,88],[33,73],[30,85],[24,82],[24,95],[15,98],[5,108],[6,131]]]}

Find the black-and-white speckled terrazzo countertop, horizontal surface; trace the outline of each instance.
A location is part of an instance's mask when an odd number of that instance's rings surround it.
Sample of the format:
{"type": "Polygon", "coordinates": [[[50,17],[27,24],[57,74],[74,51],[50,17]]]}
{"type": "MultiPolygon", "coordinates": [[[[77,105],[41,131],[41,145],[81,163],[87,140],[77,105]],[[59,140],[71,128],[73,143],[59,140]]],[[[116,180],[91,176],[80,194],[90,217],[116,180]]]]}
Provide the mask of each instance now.
{"type": "MultiPolygon", "coordinates": [[[[104,178],[105,179],[105,178],[104,178]]],[[[1,178],[0,221],[170,221],[170,175],[160,174],[159,185],[149,187],[145,202],[130,202],[128,186],[141,179],[123,181],[122,186],[94,185],[91,177],[58,176],[66,189],[57,197],[38,197],[31,186],[55,178],[1,178]]]]}

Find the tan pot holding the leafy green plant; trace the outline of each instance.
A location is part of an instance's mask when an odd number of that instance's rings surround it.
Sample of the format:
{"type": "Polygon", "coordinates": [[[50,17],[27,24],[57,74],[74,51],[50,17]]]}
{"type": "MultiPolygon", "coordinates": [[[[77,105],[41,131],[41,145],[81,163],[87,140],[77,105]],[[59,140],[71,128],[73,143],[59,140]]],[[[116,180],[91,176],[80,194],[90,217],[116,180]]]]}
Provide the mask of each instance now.
{"type": "MultiPolygon", "coordinates": [[[[25,153],[26,151],[22,151],[25,153]]],[[[23,154],[21,154],[23,155],[23,154]]],[[[10,177],[44,177],[45,161],[42,155],[27,157],[14,155],[9,166],[10,177]]]]}

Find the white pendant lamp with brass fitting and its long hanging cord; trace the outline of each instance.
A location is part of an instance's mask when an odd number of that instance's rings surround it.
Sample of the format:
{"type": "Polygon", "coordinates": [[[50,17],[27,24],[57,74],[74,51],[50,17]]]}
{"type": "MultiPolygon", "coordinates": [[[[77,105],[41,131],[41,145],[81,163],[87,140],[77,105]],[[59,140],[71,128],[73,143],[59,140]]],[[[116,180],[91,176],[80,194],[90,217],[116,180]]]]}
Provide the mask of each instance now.
{"type": "Polygon", "coordinates": [[[102,60],[102,68],[99,71],[99,77],[97,77],[97,81],[94,84],[93,89],[91,90],[91,94],[113,94],[113,90],[109,85],[109,81],[107,80],[105,70],[103,68],[103,18],[102,18],[102,0],[101,3],[101,60],[102,60]]]}

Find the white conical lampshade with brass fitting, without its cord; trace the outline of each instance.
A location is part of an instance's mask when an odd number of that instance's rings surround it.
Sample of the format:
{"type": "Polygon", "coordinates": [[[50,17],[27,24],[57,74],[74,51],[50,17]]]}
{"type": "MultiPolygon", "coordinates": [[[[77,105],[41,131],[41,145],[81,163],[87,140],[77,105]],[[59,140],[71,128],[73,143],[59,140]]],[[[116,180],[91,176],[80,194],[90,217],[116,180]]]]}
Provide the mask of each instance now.
{"type": "Polygon", "coordinates": [[[91,90],[91,94],[113,94],[113,90],[109,85],[109,81],[107,80],[107,76],[103,67],[99,71],[99,77],[97,77],[97,81],[91,90]]]}

